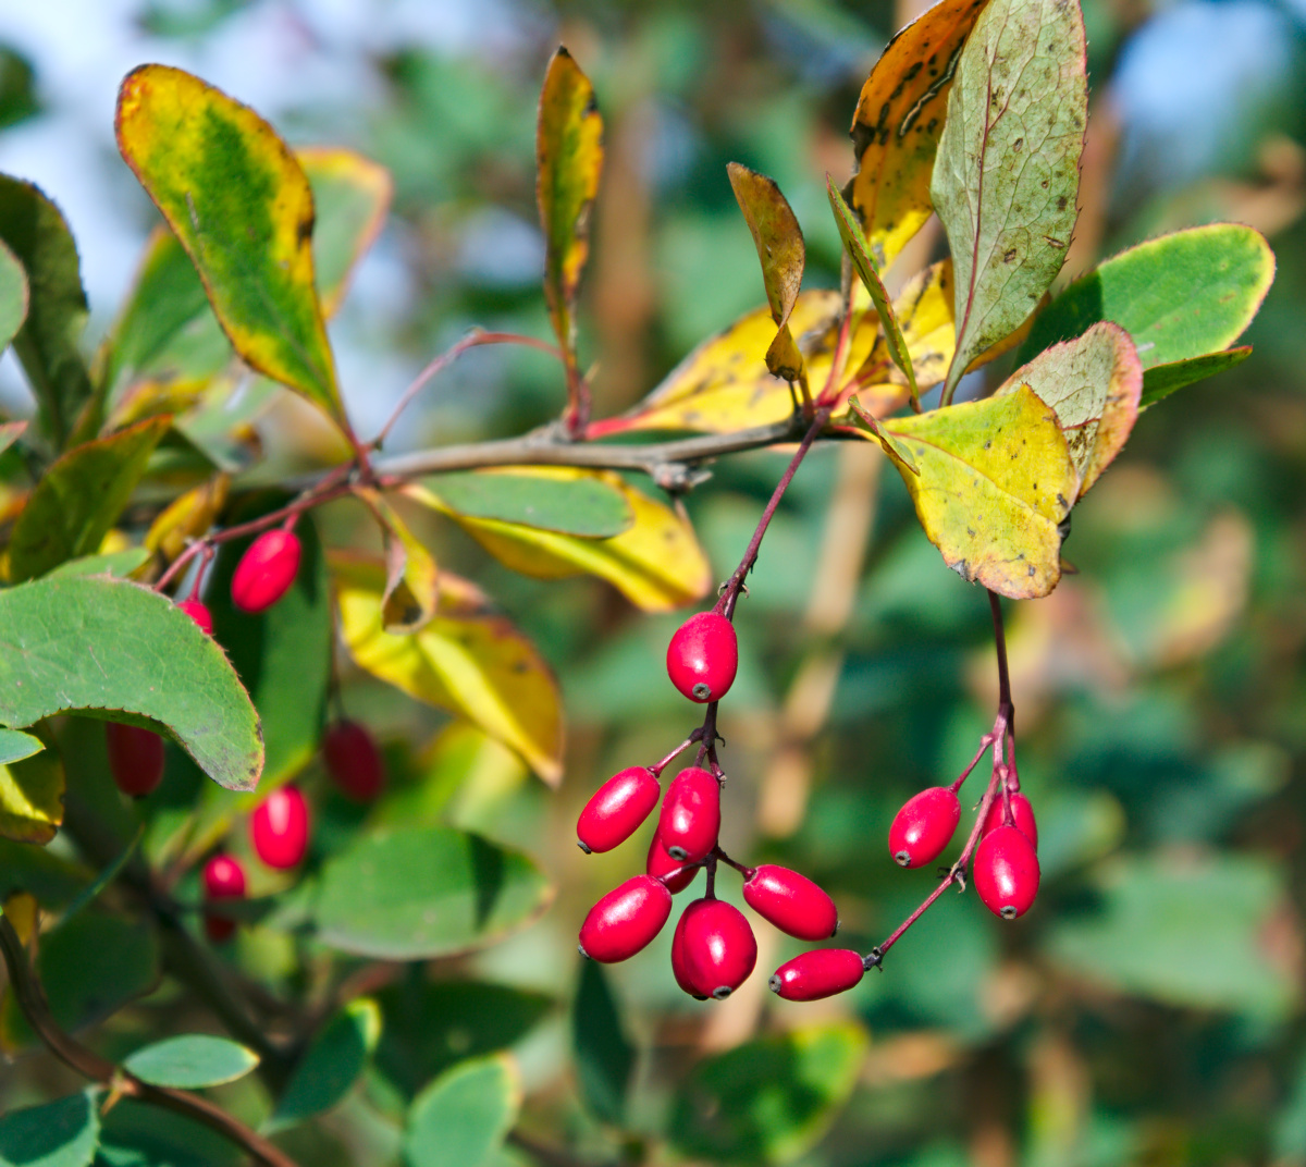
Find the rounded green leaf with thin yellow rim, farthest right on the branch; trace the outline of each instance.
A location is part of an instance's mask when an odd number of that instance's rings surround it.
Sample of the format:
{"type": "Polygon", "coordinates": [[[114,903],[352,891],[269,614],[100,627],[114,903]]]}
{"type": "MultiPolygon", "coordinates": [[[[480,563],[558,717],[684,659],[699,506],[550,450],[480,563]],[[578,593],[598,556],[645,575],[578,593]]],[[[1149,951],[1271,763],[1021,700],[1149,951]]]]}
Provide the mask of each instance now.
{"type": "Polygon", "coordinates": [[[1217,350],[1242,336],[1273,280],[1269,244],[1241,223],[1148,239],[1076,280],[1040,312],[1019,359],[1024,363],[1098,320],[1113,320],[1134,338],[1148,397],[1156,384],[1148,370],[1224,355],[1217,350]]]}

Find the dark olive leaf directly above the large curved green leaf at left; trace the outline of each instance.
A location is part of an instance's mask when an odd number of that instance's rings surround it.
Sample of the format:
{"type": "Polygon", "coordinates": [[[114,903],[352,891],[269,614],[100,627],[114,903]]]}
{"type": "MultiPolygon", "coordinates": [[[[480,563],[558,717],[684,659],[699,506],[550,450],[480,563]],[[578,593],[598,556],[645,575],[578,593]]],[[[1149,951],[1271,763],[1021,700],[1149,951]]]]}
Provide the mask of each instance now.
{"type": "Polygon", "coordinates": [[[14,524],[9,578],[33,579],[67,559],[98,551],[167,427],[168,418],[153,418],[60,456],[14,524]]]}

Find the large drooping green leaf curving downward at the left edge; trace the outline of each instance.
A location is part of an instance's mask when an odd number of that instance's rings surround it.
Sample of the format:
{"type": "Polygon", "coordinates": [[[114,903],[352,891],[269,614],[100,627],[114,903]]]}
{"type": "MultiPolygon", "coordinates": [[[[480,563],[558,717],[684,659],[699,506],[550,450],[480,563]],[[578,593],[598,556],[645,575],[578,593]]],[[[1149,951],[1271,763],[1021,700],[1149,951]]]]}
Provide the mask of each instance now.
{"type": "Polygon", "coordinates": [[[227,789],[257,783],[253,706],[222,648],[167,597],[106,576],[37,580],[0,592],[0,723],[85,710],[166,731],[227,789]]]}

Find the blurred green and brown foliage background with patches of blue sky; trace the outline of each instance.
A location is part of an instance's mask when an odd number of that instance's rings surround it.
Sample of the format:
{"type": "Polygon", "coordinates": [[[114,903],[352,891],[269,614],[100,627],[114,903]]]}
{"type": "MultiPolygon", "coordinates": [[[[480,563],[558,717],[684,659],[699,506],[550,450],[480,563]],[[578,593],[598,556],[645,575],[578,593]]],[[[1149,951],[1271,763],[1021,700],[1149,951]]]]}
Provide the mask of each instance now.
{"type": "MultiPolygon", "coordinates": [[[[1036,910],[1008,925],[973,895],[946,896],[883,975],[810,1006],[765,991],[798,947],[764,924],[752,980],[725,1004],[690,1001],[670,976],[667,929],[611,976],[611,1025],[639,1055],[622,1120],[605,1121],[614,1103],[592,1083],[586,1093],[571,1053],[575,928],[643,848],[585,859],[572,823],[598,781],[692,727],[661,665],[677,619],[643,617],[598,582],[512,575],[432,527],[441,565],[481,582],[556,670],[567,775],[552,795],[487,742],[451,736],[439,715],[346,673],[351,712],[377,728],[410,795],[377,813],[522,847],[560,894],[511,941],[405,970],[387,988],[377,1066],[299,1136],[304,1162],[388,1162],[394,1099],[457,1056],[511,1044],[528,1090],[528,1145],[504,1151],[515,1163],[1306,1163],[1306,4],[1084,9],[1092,125],[1067,274],[1215,220],[1263,230],[1279,273],[1246,338],[1255,355],[1145,413],[1077,508],[1066,555],[1080,574],[1008,609],[1020,770],[1042,835],[1036,910]],[[449,979],[471,988],[451,994],[449,979]],[[768,1094],[793,1068],[768,1060],[765,1039],[816,1023],[845,1027],[827,1030],[833,1044],[801,1070],[815,1102],[794,1113],[768,1094]],[[703,1109],[704,1074],[725,1117],[703,1109]],[[733,1124],[731,1108],[751,1117],[733,1124]]],[[[65,210],[94,340],[155,222],[112,140],[116,85],[132,67],[182,65],[293,142],[349,145],[389,167],[392,218],[333,325],[366,434],[471,324],[547,336],[534,102],[565,42],[609,127],[581,349],[597,367],[598,412],[613,413],[761,301],[727,161],[780,182],[807,237],[808,286],[837,282],[824,174],[846,178],[858,90],[912,14],[909,0],[10,3],[0,170],[65,210]]],[[[899,282],[939,246],[927,230],[899,282]]],[[[520,433],[560,401],[546,359],[478,350],[405,414],[393,444],[520,433]]],[[[29,408],[12,357],[0,403],[29,408]]],[[[332,453],[293,401],[260,429],[273,468],[332,453]]],[[[782,464],[730,459],[688,499],[722,578],[782,464]]],[[[328,540],[354,537],[355,521],[330,512],[328,540]]],[[[724,843],[821,881],[841,937],[865,950],[932,886],[889,861],[893,812],[951,779],[993,721],[985,596],[943,566],[870,446],[821,450],[767,538],[739,629],[741,680],[722,707],[724,843]]],[[[323,813],[320,838],[349,829],[323,813]]],[[[721,883],[735,895],[729,873],[721,883]]],[[[303,975],[256,928],[232,959],[274,988],[303,975]]],[[[129,1035],[176,1008],[163,985],[111,1025],[129,1035]]],[[[0,1068],[0,1106],[47,1098],[57,1082],[40,1057],[0,1068]]],[[[229,1087],[225,1102],[256,1113],[257,1089],[229,1087]]]]}

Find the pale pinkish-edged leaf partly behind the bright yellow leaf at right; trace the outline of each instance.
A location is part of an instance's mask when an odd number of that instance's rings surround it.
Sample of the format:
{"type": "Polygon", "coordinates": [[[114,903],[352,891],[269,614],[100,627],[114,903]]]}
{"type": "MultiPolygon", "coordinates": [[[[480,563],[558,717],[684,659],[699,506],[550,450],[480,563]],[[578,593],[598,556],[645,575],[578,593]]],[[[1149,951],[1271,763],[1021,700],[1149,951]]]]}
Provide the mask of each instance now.
{"type": "Polygon", "coordinates": [[[1130,335],[1094,324],[1017,369],[995,396],[1028,386],[1054,410],[1079,474],[1075,499],[1088,493],[1124,447],[1139,416],[1143,367],[1130,335]]]}

